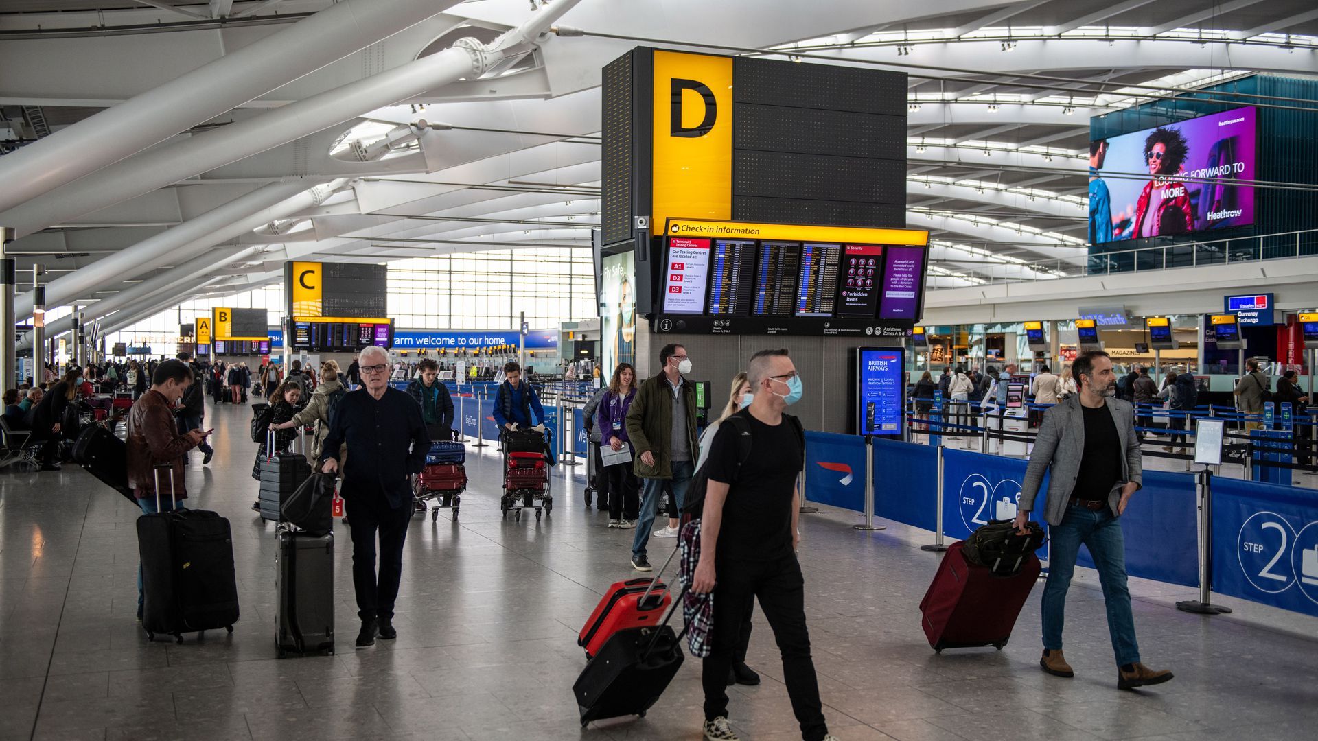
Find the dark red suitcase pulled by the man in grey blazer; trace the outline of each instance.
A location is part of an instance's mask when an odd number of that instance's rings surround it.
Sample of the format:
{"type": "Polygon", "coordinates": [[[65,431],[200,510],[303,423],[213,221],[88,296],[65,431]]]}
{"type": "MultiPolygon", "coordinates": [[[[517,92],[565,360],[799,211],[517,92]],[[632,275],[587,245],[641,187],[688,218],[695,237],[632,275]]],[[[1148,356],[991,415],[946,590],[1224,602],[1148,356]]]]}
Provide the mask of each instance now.
{"type": "Polygon", "coordinates": [[[938,653],[974,646],[1000,651],[1039,579],[1039,556],[1029,554],[1019,574],[1003,578],[966,560],[963,548],[965,541],[948,547],[920,601],[924,634],[938,653]]]}

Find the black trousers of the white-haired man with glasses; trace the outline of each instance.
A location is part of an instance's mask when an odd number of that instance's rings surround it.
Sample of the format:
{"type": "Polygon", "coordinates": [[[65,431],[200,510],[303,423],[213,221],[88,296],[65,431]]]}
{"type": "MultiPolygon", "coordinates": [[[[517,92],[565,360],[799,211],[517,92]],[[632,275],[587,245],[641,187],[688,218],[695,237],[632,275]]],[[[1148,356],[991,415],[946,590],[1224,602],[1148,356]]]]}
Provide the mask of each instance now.
{"type": "Polygon", "coordinates": [[[345,492],[344,505],[352,525],[352,587],[357,593],[357,617],[394,617],[398,580],[403,571],[403,542],[411,523],[413,505],[391,508],[385,494],[345,492]],[[353,496],[356,494],[356,496],[353,496]],[[376,576],[376,534],[380,534],[380,576],[376,576]]]}

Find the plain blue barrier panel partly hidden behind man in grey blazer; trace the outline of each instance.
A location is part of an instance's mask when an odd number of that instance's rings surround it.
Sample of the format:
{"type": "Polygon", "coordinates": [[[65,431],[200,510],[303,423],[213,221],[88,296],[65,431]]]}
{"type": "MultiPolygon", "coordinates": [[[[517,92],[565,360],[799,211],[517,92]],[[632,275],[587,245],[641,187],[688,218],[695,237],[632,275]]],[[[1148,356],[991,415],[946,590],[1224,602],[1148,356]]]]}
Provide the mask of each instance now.
{"type": "MultiPolygon", "coordinates": [[[[1127,574],[1184,587],[1199,584],[1195,497],[1189,473],[1144,472],[1144,487],[1122,516],[1127,574]]],[[[1094,567],[1089,548],[1081,548],[1075,563],[1094,567]]]]}

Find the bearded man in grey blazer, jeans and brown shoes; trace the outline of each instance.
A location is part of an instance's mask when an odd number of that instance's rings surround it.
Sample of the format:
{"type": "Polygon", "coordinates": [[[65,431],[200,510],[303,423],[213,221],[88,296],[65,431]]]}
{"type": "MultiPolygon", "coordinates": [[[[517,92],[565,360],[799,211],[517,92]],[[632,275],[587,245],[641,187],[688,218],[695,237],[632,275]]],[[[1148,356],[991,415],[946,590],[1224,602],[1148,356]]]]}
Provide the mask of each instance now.
{"type": "Polygon", "coordinates": [[[1116,374],[1106,352],[1086,352],[1072,364],[1079,393],[1044,414],[1020,489],[1016,529],[1025,531],[1029,512],[1049,472],[1044,519],[1048,521],[1048,584],[1044,587],[1044,655],[1039,666],[1053,676],[1074,676],[1062,657],[1066,589],[1079,546],[1089,547],[1103,585],[1107,630],[1116,655],[1116,686],[1133,690],[1161,684],[1172,672],[1140,663],[1131,592],[1126,585],[1126,541],[1120,516],[1140,488],[1140,440],[1135,407],[1116,398],[1116,374]]]}

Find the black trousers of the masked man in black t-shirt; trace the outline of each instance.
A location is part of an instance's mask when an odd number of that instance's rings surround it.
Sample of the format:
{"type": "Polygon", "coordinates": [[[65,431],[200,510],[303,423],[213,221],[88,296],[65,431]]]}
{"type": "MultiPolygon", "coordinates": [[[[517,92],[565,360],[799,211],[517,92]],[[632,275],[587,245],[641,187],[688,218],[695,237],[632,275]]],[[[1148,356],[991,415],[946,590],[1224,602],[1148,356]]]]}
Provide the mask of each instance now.
{"type": "Polygon", "coordinates": [[[701,668],[705,690],[705,720],[728,715],[728,671],[738,646],[750,639],[742,629],[751,599],[768,618],[774,639],[783,654],[783,678],[792,712],[801,725],[801,738],[821,741],[828,736],[818,679],[811,658],[811,637],[805,629],[805,579],[795,555],[770,562],[721,560],[716,564],[713,653],[701,668]]]}

